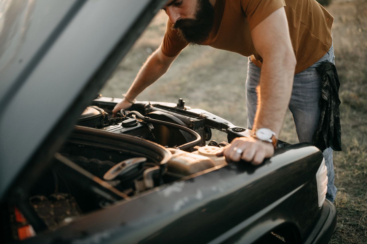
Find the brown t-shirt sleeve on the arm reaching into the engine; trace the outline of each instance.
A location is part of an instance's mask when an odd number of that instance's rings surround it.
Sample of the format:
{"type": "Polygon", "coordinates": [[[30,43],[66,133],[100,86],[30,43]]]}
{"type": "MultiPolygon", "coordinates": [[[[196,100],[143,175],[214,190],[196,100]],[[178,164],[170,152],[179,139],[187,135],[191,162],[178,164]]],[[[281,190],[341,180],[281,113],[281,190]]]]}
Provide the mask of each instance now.
{"type": "Polygon", "coordinates": [[[172,23],[167,20],[166,33],[164,33],[161,50],[167,57],[174,57],[178,55],[187,43],[177,33],[177,30],[171,28],[172,23]]]}

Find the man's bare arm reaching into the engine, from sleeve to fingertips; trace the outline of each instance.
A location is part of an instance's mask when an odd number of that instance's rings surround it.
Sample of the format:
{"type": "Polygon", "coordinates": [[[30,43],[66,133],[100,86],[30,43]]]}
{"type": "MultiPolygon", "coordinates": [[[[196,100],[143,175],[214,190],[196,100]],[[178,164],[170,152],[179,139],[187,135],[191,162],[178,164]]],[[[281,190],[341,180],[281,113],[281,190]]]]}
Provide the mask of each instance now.
{"type": "MultiPolygon", "coordinates": [[[[178,56],[178,55],[177,55],[178,56]]],[[[167,57],[163,54],[161,47],[159,47],[143,64],[139,70],[134,82],[126,93],[126,99],[123,99],[120,103],[116,104],[112,113],[115,116],[117,112],[123,109],[127,109],[131,106],[129,101],[133,101],[145,88],[153,84],[159,79],[170,67],[171,63],[175,60],[174,57],[167,57]],[[128,100],[128,101],[127,101],[128,100]]]]}

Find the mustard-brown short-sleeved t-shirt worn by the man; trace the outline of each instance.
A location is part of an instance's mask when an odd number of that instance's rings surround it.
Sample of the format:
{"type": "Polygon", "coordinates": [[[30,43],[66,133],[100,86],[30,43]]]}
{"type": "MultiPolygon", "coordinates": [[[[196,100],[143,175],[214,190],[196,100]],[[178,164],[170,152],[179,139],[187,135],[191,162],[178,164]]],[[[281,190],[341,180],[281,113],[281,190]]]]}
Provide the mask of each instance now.
{"type": "MultiPolygon", "coordinates": [[[[319,60],[331,47],[331,16],[315,0],[216,0],[214,25],[201,45],[250,56],[261,68],[262,58],[252,43],[251,30],[279,8],[285,8],[293,50],[297,59],[295,73],[319,60]]],[[[186,47],[167,21],[162,52],[176,56],[186,47]]]]}

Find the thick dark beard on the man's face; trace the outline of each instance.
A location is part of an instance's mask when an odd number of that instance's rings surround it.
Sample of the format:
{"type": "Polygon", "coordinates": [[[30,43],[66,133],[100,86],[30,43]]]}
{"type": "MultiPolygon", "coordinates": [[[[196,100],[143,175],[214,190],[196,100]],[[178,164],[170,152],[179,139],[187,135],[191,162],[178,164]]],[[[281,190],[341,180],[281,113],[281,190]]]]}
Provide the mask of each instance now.
{"type": "Polygon", "coordinates": [[[195,19],[178,19],[173,25],[187,44],[201,44],[209,37],[214,23],[214,7],[209,0],[198,0],[195,19]]]}

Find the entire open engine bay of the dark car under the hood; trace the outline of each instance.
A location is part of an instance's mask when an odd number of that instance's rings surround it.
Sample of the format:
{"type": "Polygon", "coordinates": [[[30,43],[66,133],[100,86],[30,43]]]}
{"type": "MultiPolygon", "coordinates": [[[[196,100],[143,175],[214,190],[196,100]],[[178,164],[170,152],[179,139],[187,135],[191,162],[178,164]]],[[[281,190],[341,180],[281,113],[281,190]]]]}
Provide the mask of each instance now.
{"type": "MultiPolygon", "coordinates": [[[[9,204],[12,240],[227,164],[215,155],[227,143],[211,140],[211,128],[228,133],[228,121],[217,117],[211,120],[217,124],[208,125],[211,114],[184,106],[182,99],[136,103],[115,118],[112,108],[104,101],[88,106],[51,169],[32,186],[29,202],[9,204]]],[[[233,138],[246,131],[234,128],[233,138]]]]}

